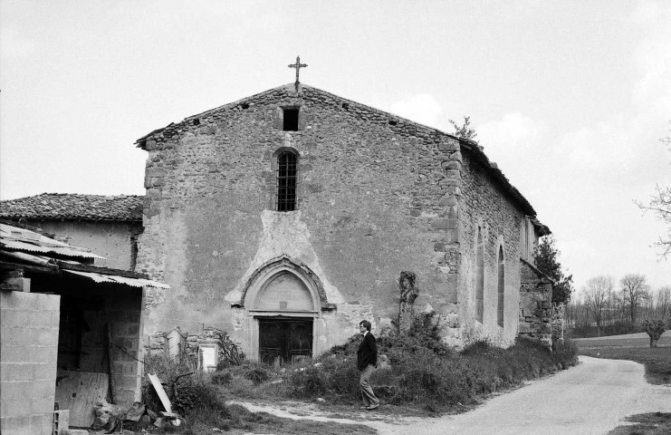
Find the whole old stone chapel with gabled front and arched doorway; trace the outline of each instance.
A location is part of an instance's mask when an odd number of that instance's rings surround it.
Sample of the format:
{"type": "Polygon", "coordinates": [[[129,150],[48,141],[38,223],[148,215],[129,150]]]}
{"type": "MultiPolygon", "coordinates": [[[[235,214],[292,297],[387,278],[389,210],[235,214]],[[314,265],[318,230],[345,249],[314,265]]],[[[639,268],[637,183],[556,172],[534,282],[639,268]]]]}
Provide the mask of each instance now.
{"type": "Polygon", "coordinates": [[[170,286],[145,290],[145,337],[211,327],[253,360],[316,356],[396,321],[408,271],[447,343],[548,339],[532,250],[550,230],[472,140],[296,82],[137,146],[136,271],[170,286]]]}

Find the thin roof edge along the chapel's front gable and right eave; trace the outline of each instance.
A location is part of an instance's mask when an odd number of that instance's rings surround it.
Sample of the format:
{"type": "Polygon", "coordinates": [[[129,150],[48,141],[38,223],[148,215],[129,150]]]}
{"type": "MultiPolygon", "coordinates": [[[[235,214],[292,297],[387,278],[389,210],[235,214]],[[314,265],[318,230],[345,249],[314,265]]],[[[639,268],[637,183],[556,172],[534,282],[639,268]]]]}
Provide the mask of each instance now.
{"type": "MultiPolygon", "coordinates": [[[[536,211],[532,208],[529,201],[522,196],[522,193],[516,189],[508,180],[496,163],[490,161],[484,154],[484,148],[478,145],[474,140],[458,138],[455,135],[446,133],[445,131],[437,130],[433,127],[428,127],[419,122],[410,121],[401,118],[398,115],[381,111],[373,107],[353,102],[346,98],[342,98],[331,92],[322,91],[321,89],[308,86],[306,84],[299,84],[298,91],[294,87],[294,83],[284,84],[264,92],[259,92],[250,97],[238,100],[236,102],[229,102],[222,106],[216,107],[209,111],[204,111],[196,115],[188,116],[180,122],[170,122],[166,127],[149,132],[148,134],[135,141],[138,148],[147,150],[147,142],[156,139],[169,139],[170,137],[181,132],[186,126],[195,125],[199,118],[221,111],[241,111],[247,107],[254,105],[257,102],[265,102],[269,98],[281,99],[286,96],[302,95],[303,98],[310,98],[311,96],[319,97],[321,102],[325,104],[332,104],[334,109],[341,111],[348,111],[354,116],[362,117],[371,123],[384,124],[388,129],[398,131],[400,134],[412,134],[425,138],[432,138],[436,141],[442,140],[458,140],[461,150],[466,150],[478,161],[484,170],[501,186],[503,191],[509,194],[513,200],[518,204],[524,213],[532,218],[535,218],[536,211]]],[[[534,227],[537,227],[542,234],[550,234],[550,228],[541,224],[538,219],[532,220],[534,227]]]]}

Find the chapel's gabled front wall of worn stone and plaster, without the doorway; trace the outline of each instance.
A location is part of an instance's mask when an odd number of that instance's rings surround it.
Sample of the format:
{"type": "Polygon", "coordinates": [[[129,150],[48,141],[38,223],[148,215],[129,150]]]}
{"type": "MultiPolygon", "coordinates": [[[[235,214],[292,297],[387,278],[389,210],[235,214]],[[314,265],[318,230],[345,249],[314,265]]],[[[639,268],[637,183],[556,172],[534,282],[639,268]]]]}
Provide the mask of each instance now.
{"type": "MultiPolygon", "coordinates": [[[[148,333],[214,326],[244,342],[231,307],[254,271],[278,256],[309,266],[330,304],[326,349],[369,318],[398,314],[398,275],[417,274],[419,306],[455,312],[444,163],[457,140],[327,92],[292,87],[208,111],[145,142],[145,232],[138,271],[165,280],[148,295],[148,333]],[[283,131],[282,107],[301,107],[283,131]],[[273,155],[299,158],[298,211],[273,211],[273,155]]],[[[454,313],[455,314],[455,313],[454,313]]]]}

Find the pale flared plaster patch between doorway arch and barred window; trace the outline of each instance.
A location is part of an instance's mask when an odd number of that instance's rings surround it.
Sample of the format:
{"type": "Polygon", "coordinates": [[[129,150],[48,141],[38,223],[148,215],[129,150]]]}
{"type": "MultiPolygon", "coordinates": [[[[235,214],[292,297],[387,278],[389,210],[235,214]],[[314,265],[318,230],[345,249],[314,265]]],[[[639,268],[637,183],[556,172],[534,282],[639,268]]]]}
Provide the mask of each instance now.
{"type": "Polygon", "coordinates": [[[319,276],[329,303],[341,304],[345,301],[338,288],[331,285],[321,269],[319,258],[309,240],[310,231],[301,221],[301,210],[292,212],[264,210],[261,213],[261,221],[264,224],[264,234],[259,242],[256,255],[235,288],[225,296],[226,301],[240,302],[244,285],[249,277],[267,261],[278,256],[295,258],[310,267],[312,272],[319,276]]]}

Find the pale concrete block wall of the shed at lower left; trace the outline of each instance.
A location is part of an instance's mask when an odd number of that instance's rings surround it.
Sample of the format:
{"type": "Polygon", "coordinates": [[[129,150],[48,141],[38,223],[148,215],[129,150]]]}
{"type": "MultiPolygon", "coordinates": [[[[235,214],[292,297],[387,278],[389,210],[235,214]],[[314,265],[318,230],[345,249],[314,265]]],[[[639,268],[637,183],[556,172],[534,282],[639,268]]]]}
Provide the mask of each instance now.
{"type": "Polygon", "coordinates": [[[0,292],[0,433],[52,433],[60,296],[0,292]]]}

